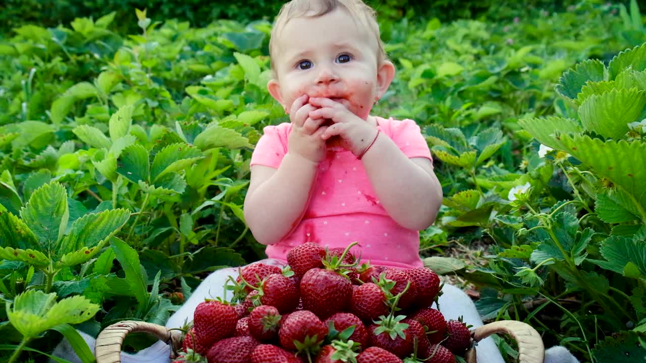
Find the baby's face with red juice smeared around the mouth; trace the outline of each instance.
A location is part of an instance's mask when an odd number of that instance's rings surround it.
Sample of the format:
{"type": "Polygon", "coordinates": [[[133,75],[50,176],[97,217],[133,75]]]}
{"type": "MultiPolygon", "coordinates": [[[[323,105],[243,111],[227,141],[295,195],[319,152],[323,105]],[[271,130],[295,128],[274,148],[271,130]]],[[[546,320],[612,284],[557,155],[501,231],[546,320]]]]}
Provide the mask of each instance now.
{"type": "Polygon", "coordinates": [[[366,119],[375,97],[385,91],[377,47],[373,34],[346,10],[296,17],[278,35],[274,52],[277,79],[267,87],[287,110],[295,99],[307,94],[331,98],[366,119]]]}

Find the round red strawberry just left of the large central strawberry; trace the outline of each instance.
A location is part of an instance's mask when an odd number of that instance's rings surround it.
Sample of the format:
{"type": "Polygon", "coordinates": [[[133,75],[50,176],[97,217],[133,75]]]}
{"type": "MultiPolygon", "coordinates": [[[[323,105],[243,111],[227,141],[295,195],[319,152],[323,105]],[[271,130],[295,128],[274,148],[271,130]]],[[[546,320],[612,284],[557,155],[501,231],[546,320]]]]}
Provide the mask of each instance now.
{"type": "Polygon", "coordinates": [[[291,313],[298,306],[297,287],[289,278],[278,273],[271,274],[262,281],[258,295],[263,305],[274,306],[281,314],[291,313]]]}

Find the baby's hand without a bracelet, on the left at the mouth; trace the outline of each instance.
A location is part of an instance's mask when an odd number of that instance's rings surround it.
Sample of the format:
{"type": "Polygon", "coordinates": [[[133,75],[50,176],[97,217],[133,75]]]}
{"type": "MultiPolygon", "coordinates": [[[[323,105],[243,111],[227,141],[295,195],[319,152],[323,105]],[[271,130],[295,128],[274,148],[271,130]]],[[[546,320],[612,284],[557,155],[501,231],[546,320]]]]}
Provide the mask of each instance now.
{"type": "Polygon", "coordinates": [[[309,112],[317,108],[307,103],[307,95],[294,100],[289,111],[291,131],[287,152],[296,154],[313,163],[319,163],[326,157],[325,140],[321,137],[328,128],[321,126],[325,119],[312,119],[309,112]]]}

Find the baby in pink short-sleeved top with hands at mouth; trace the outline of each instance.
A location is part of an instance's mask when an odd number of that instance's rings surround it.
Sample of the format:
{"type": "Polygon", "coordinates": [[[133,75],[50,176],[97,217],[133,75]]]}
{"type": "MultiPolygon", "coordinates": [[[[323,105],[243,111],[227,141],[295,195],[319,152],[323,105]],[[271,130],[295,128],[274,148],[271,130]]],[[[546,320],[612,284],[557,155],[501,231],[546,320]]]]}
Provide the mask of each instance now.
{"type": "Polygon", "coordinates": [[[360,0],[294,0],[269,43],[269,93],[290,123],[268,126],[244,203],[269,258],[304,242],[346,247],[372,264],[420,267],[419,230],[442,189],[410,119],[371,116],[395,76],[373,10],[360,0]]]}

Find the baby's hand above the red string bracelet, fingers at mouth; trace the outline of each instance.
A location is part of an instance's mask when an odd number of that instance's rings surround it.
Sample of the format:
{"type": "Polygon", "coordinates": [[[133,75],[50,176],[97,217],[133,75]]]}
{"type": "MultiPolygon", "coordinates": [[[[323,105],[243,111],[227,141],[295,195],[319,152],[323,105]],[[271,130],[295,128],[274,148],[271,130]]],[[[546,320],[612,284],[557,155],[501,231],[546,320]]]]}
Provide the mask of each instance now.
{"type": "Polygon", "coordinates": [[[334,123],[322,133],[323,140],[339,135],[344,141],[343,146],[355,156],[359,156],[375,138],[377,133],[375,127],[350,112],[341,103],[329,98],[311,98],[309,103],[318,107],[318,109],[309,112],[309,118],[331,119],[334,123]]]}

